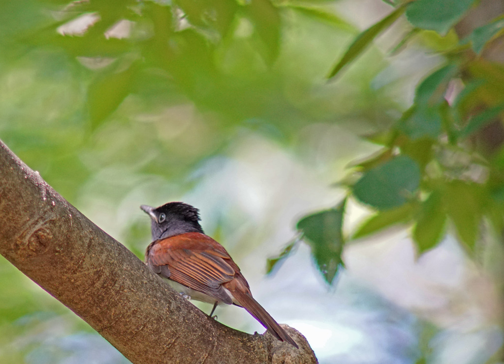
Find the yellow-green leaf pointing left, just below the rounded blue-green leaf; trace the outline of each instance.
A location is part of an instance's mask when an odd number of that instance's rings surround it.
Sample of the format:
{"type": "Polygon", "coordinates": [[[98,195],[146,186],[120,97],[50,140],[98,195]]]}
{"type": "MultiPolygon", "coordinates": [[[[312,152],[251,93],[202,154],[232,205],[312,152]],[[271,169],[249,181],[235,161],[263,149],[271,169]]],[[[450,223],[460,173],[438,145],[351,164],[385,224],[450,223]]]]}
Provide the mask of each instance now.
{"type": "Polygon", "coordinates": [[[395,209],[380,211],[367,219],[353,234],[352,239],[374,234],[396,224],[405,224],[411,220],[412,213],[416,210],[416,204],[404,204],[395,209]]]}

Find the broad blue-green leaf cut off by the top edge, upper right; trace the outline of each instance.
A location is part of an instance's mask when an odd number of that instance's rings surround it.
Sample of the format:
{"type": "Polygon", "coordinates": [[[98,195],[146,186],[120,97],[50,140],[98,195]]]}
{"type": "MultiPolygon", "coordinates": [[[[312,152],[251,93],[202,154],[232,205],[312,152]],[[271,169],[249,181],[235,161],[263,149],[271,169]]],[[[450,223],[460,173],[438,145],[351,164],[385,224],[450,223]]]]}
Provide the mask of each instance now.
{"type": "Polygon", "coordinates": [[[448,33],[474,0],[416,0],[408,4],[406,18],[417,28],[448,33]]]}

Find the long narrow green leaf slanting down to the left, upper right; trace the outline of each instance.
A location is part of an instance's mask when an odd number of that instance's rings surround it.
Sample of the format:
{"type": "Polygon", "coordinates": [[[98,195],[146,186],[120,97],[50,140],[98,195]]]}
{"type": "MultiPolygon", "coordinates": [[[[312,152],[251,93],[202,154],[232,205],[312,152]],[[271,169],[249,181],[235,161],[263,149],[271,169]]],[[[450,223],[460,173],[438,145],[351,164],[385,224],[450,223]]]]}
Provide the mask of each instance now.
{"type": "Polygon", "coordinates": [[[352,62],[358,55],[360,55],[364,49],[371,44],[374,38],[380,33],[388,29],[394,22],[404,13],[404,7],[400,6],[387,17],[379,21],[378,23],[367,28],[365,31],[360,33],[353,43],[348,47],[347,51],[340,59],[338,63],[333,67],[327,78],[334,77],[347,63],[352,62]]]}

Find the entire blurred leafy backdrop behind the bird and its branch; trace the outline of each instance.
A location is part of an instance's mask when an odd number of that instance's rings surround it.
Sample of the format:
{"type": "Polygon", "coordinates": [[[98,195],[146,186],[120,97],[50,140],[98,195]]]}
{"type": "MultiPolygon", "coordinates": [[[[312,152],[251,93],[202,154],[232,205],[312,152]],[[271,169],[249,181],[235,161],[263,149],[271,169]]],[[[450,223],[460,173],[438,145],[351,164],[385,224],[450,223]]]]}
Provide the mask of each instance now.
{"type": "MultiPolygon", "coordinates": [[[[502,14],[1,2],[0,138],[141,259],[141,204],[199,208],[321,363],[502,363],[502,14]]],[[[0,293],[0,362],[129,362],[4,258],[0,293]]]]}

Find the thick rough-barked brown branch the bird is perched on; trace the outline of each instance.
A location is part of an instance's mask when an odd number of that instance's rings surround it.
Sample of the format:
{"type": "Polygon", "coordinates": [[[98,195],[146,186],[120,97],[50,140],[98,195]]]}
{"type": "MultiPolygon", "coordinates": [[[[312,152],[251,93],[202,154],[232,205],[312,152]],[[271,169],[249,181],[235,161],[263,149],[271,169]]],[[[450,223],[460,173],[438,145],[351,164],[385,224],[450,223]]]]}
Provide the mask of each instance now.
{"type": "Polygon", "coordinates": [[[0,141],[0,253],[133,363],[315,363],[209,318],[58,195],[0,141]]]}

